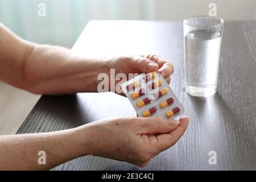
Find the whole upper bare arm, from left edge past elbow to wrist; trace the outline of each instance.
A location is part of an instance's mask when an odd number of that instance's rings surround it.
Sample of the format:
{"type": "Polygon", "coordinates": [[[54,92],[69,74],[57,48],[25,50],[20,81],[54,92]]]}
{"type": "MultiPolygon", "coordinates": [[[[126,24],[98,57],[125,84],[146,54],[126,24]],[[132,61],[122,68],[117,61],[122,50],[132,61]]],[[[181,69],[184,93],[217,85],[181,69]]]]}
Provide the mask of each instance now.
{"type": "Polygon", "coordinates": [[[104,59],[86,59],[69,49],[34,44],[0,23],[0,80],[37,94],[97,92],[104,59]]]}

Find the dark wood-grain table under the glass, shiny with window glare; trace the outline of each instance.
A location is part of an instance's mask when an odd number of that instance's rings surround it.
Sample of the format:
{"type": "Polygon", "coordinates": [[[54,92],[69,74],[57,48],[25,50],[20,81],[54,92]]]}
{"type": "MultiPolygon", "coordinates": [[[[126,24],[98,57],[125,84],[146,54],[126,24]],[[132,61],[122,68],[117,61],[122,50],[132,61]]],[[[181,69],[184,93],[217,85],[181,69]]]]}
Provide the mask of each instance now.
{"type": "MultiPolygon", "coordinates": [[[[150,52],[170,59],[175,67],[171,88],[191,121],[179,142],[152,159],[146,168],[85,156],[54,169],[255,170],[256,22],[226,22],[224,27],[218,92],[201,99],[184,90],[181,22],[90,22],[74,52],[92,57],[150,52]],[[210,151],[216,151],[217,164],[209,164],[210,151]]],[[[102,118],[135,115],[127,98],[114,93],[42,96],[18,134],[63,130],[102,118]]]]}

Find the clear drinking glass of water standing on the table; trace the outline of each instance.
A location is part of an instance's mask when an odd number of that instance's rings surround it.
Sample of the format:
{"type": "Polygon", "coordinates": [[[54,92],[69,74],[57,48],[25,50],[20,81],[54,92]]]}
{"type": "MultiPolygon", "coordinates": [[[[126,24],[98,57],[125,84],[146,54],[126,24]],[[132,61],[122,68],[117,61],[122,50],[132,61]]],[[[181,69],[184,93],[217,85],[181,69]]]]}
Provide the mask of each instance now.
{"type": "Polygon", "coordinates": [[[224,20],[195,16],[183,21],[185,89],[196,97],[217,91],[218,64],[224,20]]]}

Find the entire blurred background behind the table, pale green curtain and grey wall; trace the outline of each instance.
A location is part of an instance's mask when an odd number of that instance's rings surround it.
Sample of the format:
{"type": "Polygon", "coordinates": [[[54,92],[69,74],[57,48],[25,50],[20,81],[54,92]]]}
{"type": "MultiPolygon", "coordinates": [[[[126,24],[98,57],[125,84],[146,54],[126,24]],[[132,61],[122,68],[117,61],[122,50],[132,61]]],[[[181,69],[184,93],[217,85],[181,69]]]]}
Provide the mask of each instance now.
{"type": "Polygon", "coordinates": [[[0,0],[0,22],[22,38],[71,48],[92,19],[183,20],[208,15],[209,3],[225,20],[256,18],[255,0],[0,0]]]}

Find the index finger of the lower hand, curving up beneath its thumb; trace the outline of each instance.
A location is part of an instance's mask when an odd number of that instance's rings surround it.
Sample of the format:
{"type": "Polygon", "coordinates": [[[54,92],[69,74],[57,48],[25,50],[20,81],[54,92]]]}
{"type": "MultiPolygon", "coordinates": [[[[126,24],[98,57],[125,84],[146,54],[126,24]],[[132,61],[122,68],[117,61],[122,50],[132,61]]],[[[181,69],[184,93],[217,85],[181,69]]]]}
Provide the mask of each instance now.
{"type": "Polygon", "coordinates": [[[175,130],[171,131],[171,133],[160,134],[156,137],[155,136],[148,137],[149,142],[159,152],[162,152],[162,151],[166,150],[167,148],[170,148],[184,134],[184,132],[188,126],[188,121],[189,121],[188,117],[181,118],[178,127],[175,130]]]}

